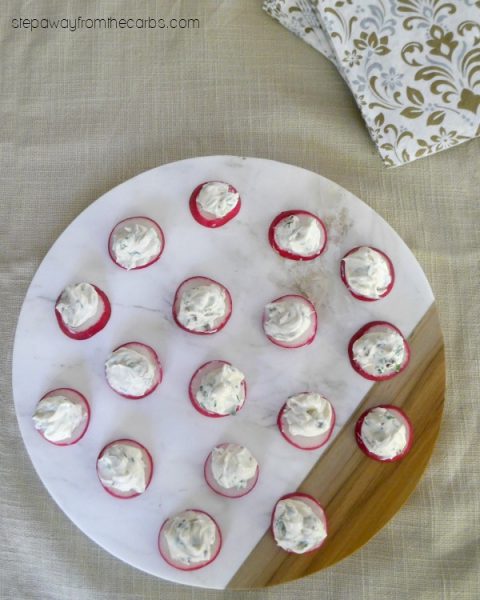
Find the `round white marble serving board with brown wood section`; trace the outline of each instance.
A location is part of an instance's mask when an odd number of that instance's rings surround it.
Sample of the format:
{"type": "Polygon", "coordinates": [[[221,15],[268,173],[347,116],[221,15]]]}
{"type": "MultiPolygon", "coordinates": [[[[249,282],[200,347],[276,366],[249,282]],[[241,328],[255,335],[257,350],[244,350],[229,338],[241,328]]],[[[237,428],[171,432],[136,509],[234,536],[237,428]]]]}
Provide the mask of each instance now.
{"type": "MultiPolygon", "coordinates": [[[[375,212],[335,183],[291,165],[255,158],[213,156],[183,160],[143,173],[106,193],[64,231],[43,260],[20,314],[13,357],[13,390],[21,433],[35,469],[70,519],[92,540],[131,565],[164,579],[211,588],[263,587],[301,577],[347,556],[399,509],[420,478],[440,426],[444,398],[443,342],[434,298],[412,253],[375,212]],[[220,229],[192,218],[188,199],[201,182],[223,180],[240,192],[239,215],[220,229]],[[327,251],[309,263],[288,261],[269,246],[268,226],[281,211],[318,214],[328,229],[327,251]],[[166,246],[147,269],[127,272],[109,258],[113,225],[146,215],[163,228],[166,246]],[[353,298],[339,277],[339,261],[368,244],[392,259],[396,282],[378,302],[353,298]],[[182,331],[171,305],[179,283],[205,275],[233,297],[227,326],[212,336],[182,331]],[[90,281],[112,303],[107,327],[75,341],[56,323],[54,303],[69,283],[90,281]],[[319,327],[310,346],[273,345],[261,327],[264,305],[288,293],[306,295],[319,327]],[[408,368],[372,383],[351,367],[350,337],[365,323],[386,320],[412,349],[408,368]],[[159,354],[164,379],[145,399],[116,395],[104,361],[120,344],[136,340],[159,354]],[[248,398],[235,417],[209,419],[188,399],[191,375],[202,363],[224,359],[246,375],[248,398]],[[48,390],[69,386],[90,401],[85,437],[71,447],[48,444],[34,429],[35,404],[48,390]],[[316,390],[332,402],[334,434],[314,452],[288,444],[276,417],[289,395],[316,390]],[[382,464],[360,452],[355,420],[366,407],[402,406],[415,442],[397,463],[382,464]],[[120,501],[105,492],[96,471],[101,448],[133,438],[151,452],[155,471],[147,491],[120,501]],[[240,499],[214,494],[203,463],[218,443],[246,445],[258,459],[256,488],[240,499]],[[327,541],[308,555],[287,554],[269,533],[272,507],[288,492],[315,496],[329,521],[327,541]],[[223,547],[204,569],[170,567],[157,549],[161,523],[185,508],[200,508],[219,523],[223,547]]],[[[392,557],[392,564],[394,557],[392,557]]]]}

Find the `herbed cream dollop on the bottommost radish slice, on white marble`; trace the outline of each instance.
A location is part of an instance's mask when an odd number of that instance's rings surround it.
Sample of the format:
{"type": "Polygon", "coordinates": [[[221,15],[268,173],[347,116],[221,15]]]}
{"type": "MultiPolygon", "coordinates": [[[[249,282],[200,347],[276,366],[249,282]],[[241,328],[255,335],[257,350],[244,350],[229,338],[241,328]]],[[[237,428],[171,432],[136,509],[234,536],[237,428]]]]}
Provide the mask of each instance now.
{"type": "Polygon", "coordinates": [[[168,519],[165,542],[171,558],[183,565],[195,565],[212,558],[217,528],[206,514],[186,510],[168,519]]]}

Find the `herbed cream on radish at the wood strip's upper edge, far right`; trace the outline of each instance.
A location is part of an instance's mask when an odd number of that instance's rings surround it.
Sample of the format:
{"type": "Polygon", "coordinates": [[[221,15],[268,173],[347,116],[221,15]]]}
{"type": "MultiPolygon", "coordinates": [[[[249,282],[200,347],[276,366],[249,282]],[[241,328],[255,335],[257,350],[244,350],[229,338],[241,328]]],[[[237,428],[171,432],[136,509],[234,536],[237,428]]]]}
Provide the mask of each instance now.
{"type": "Polygon", "coordinates": [[[405,360],[403,338],[390,328],[365,333],[354,342],[352,351],[357,365],[377,377],[398,372],[405,360]]]}

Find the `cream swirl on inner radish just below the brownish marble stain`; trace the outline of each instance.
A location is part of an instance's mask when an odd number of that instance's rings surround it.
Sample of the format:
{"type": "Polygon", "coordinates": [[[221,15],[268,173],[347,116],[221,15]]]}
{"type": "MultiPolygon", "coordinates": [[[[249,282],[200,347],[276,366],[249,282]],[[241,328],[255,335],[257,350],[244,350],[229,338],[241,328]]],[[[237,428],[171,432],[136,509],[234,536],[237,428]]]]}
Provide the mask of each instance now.
{"type": "Polygon", "coordinates": [[[279,342],[295,342],[312,326],[312,309],[304,301],[285,298],[265,306],[265,333],[279,342]]]}

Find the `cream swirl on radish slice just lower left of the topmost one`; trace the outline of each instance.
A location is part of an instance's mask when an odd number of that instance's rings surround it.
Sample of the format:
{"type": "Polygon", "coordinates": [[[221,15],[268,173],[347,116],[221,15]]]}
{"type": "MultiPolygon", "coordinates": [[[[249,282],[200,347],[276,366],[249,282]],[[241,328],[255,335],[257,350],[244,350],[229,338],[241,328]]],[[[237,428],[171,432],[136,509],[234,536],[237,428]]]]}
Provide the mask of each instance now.
{"type": "Polygon", "coordinates": [[[125,269],[142,267],[158,256],[162,242],[158,231],[145,222],[128,222],[115,229],[112,236],[112,253],[125,269]]]}

